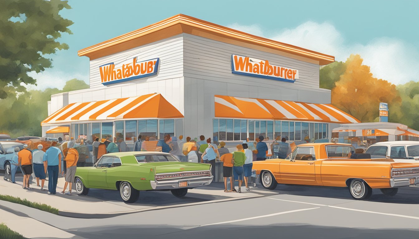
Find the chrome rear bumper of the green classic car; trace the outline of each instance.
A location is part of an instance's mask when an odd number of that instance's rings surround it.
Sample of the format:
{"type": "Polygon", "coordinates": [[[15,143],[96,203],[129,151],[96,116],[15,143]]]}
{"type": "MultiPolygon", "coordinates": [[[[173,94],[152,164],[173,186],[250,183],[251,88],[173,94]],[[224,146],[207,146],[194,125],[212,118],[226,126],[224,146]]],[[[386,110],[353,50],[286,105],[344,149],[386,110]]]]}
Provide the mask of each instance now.
{"type": "Polygon", "coordinates": [[[176,188],[197,188],[209,185],[212,182],[214,176],[207,177],[195,177],[189,179],[176,179],[176,180],[160,180],[160,181],[150,181],[151,188],[155,190],[163,189],[176,189],[176,188]],[[187,187],[179,187],[179,182],[188,181],[187,187]]]}

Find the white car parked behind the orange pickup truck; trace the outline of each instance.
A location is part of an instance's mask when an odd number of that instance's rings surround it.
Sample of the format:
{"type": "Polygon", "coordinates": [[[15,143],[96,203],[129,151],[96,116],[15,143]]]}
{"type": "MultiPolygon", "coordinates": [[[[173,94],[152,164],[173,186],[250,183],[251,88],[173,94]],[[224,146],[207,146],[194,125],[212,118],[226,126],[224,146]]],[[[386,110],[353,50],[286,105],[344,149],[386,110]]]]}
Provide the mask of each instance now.
{"type": "Polygon", "coordinates": [[[372,159],[391,158],[396,162],[417,162],[419,160],[419,141],[390,141],[372,144],[365,151],[372,159]]]}

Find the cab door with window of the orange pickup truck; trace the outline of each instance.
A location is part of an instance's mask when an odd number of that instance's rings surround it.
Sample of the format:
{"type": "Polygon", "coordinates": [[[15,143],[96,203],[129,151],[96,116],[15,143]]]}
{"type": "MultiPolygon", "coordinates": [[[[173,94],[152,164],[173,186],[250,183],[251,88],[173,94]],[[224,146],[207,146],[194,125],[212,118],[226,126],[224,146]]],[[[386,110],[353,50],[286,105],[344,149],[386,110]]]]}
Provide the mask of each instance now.
{"type": "Polygon", "coordinates": [[[293,184],[315,184],[316,154],[314,147],[300,146],[293,152],[291,160],[284,160],[279,165],[281,181],[293,184]]]}

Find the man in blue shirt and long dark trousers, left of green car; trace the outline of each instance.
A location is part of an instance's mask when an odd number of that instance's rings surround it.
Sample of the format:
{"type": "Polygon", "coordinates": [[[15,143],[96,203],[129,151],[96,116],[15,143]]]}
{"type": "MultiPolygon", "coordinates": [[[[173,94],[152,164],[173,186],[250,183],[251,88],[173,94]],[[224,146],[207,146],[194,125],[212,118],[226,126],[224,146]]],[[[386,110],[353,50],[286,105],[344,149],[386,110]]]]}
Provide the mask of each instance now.
{"type": "Polygon", "coordinates": [[[64,158],[61,150],[54,141],[51,147],[44,154],[44,161],[47,161],[48,171],[48,194],[55,194],[57,189],[58,173],[61,172],[61,160],[64,158]]]}

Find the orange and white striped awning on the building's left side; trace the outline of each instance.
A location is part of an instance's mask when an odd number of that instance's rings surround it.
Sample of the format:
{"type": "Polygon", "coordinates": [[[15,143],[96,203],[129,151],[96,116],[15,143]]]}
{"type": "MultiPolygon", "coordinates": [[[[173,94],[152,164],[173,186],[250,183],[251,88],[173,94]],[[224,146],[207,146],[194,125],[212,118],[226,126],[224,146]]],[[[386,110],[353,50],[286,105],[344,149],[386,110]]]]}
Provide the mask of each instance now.
{"type": "Polygon", "coordinates": [[[114,100],[71,103],[51,114],[41,126],[74,121],[130,118],[184,118],[162,95],[148,94],[114,100]]]}

